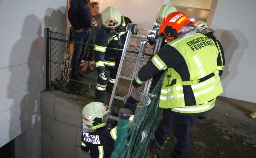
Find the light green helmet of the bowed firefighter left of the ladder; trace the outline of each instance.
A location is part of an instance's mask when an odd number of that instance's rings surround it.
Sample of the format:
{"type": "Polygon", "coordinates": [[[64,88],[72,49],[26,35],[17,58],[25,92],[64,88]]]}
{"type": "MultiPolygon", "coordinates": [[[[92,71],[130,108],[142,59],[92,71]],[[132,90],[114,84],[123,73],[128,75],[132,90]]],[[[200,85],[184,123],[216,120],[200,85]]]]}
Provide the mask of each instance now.
{"type": "Polygon", "coordinates": [[[117,28],[122,22],[121,16],[117,8],[109,6],[102,11],[102,24],[108,29],[117,28]]]}

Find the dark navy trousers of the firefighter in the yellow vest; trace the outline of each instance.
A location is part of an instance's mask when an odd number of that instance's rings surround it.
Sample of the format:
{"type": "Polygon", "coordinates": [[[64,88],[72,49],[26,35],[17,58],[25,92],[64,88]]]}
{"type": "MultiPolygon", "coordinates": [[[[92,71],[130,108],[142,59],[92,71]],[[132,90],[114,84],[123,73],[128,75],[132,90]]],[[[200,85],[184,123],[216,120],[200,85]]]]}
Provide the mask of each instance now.
{"type": "Polygon", "coordinates": [[[198,116],[185,116],[173,113],[171,109],[165,109],[164,117],[155,130],[154,135],[158,143],[164,143],[169,130],[173,128],[175,135],[175,148],[172,158],[186,158],[190,150],[191,134],[198,116]]]}

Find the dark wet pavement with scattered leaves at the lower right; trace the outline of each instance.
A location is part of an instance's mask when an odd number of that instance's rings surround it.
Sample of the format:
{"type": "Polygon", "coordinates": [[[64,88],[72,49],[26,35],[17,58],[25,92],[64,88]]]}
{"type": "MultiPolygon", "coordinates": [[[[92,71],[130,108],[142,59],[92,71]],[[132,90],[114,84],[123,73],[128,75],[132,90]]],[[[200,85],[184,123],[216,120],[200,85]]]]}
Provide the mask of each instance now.
{"type": "MultiPolygon", "coordinates": [[[[256,158],[256,119],[249,117],[255,103],[218,96],[205,120],[196,122],[187,158],[256,158]]],[[[169,132],[157,158],[171,158],[173,132],[169,132]]]]}

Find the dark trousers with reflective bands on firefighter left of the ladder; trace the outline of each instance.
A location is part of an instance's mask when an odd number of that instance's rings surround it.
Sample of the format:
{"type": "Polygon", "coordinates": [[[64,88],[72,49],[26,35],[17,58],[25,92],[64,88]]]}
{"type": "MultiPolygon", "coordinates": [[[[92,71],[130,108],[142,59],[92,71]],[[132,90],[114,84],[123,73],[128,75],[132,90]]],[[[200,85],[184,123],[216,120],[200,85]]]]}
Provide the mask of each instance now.
{"type": "Polygon", "coordinates": [[[100,77],[97,79],[97,85],[95,89],[95,95],[97,97],[105,97],[106,90],[109,92],[112,92],[114,84],[109,81],[109,78],[115,79],[117,77],[117,69],[109,68],[108,66],[105,66],[105,77],[106,80],[102,80],[100,77]],[[102,85],[102,86],[100,86],[102,85]],[[106,88],[104,88],[107,86],[106,88]]]}

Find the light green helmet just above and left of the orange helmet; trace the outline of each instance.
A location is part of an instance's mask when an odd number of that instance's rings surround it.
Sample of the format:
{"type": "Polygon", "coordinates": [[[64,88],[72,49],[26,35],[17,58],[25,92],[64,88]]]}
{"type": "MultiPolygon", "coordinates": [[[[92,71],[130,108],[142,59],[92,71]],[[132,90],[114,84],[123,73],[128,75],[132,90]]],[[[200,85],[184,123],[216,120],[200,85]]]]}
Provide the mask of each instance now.
{"type": "Polygon", "coordinates": [[[161,8],[159,8],[157,11],[157,14],[156,14],[155,25],[160,26],[164,17],[166,17],[169,13],[172,13],[174,11],[177,11],[177,9],[170,4],[166,4],[166,5],[162,6],[161,8]]]}

